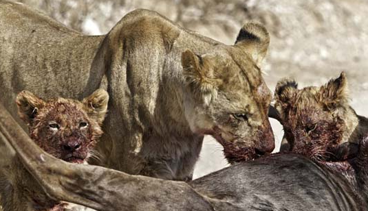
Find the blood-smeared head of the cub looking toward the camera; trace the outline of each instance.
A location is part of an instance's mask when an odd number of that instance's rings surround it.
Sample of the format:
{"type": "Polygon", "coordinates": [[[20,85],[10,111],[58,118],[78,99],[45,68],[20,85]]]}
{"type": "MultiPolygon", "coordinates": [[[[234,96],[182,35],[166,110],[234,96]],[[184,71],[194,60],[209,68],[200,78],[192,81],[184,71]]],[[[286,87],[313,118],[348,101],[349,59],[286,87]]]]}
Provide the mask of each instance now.
{"type": "Polygon", "coordinates": [[[19,116],[28,124],[30,137],[43,150],[68,162],[84,162],[105,119],[109,95],[96,90],[82,102],[57,98],[43,101],[31,92],[17,96],[19,116]]]}

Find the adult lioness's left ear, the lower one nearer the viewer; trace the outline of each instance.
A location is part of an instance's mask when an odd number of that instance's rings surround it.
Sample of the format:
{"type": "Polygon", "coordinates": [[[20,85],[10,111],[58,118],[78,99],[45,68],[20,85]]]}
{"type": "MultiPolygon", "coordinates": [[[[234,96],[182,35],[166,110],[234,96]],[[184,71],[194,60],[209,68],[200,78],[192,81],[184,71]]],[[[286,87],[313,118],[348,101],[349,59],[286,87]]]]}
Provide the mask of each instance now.
{"type": "Polygon", "coordinates": [[[193,92],[204,99],[208,105],[217,95],[218,80],[213,78],[213,73],[208,68],[206,61],[191,50],[182,53],[183,75],[193,92]]]}

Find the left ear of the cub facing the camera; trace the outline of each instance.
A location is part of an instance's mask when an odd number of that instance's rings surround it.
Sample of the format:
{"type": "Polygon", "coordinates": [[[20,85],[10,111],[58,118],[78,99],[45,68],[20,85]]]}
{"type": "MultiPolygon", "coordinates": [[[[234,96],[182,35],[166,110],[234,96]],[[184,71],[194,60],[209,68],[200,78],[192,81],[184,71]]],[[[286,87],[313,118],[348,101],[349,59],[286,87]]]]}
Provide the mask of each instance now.
{"type": "Polygon", "coordinates": [[[15,101],[19,116],[27,124],[30,124],[38,110],[45,106],[43,99],[36,97],[32,92],[26,90],[19,92],[15,101]]]}

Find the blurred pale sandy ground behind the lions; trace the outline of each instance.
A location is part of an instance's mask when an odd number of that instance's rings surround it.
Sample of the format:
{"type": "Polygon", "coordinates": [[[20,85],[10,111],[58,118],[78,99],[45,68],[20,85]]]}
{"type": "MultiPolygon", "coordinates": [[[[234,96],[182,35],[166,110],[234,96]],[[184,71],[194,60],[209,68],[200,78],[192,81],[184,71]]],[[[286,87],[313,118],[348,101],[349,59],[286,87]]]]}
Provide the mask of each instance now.
{"type": "MultiPolygon", "coordinates": [[[[263,75],[271,90],[281,77],[299,87],[321,86],[347,73],[351,106],[368,116],[367,0],[22,0],[89,35],[106,34],[137,8],[155,10],[188,29],[232,45],[241,26],[259,21],[270,32],[263,75]]],[[[277,149],[283,136],[272,121],[277,149]]],[[[227,165],[222,147],[206,137],[194,177],[227,165]]]]}

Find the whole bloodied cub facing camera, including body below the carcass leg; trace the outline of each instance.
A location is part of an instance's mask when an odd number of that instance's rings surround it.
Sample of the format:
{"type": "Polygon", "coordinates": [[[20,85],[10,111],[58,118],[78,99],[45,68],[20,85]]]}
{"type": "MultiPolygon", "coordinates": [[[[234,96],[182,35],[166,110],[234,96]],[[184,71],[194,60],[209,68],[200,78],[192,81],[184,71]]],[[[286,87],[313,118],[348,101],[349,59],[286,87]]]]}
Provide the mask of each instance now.
{"type": "MultiPolygon", "coordinates": [[[[43,101],[23,91],[17,96],[17,105],[37,145],[56,158],[83,163],[102,135],[108,100],[109,95],[101,89],[82,102],[63,98],[43,101]]],[[[67,205],[50,199],[18,158],[1,169],[0,192],[4,211],[58,211],[67,205]]]]}

